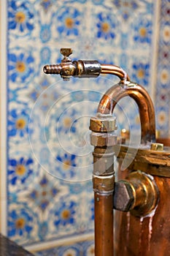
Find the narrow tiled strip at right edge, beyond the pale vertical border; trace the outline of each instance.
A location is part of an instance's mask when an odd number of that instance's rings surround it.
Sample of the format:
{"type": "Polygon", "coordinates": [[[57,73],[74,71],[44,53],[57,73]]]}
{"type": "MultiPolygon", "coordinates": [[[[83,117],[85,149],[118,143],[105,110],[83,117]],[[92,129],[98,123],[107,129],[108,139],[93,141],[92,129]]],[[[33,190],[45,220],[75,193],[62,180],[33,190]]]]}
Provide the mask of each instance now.
{"type": "Polygon", "coordinates": [[[170,50],[170,18],[169,1],[161,3],[160,39],[158,48],[158,75],[156,86],[155,110],[157,128],[161,136],[168,137],[170,124],[170,76],[169,76],[169,50],[170,50]]]}

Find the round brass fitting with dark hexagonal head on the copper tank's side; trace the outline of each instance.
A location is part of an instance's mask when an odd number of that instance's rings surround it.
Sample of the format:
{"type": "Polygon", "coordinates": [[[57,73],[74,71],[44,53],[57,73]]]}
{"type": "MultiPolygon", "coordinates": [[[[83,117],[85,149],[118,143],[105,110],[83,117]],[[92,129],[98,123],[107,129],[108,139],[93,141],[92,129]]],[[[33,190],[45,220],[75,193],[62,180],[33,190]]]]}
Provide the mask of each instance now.
{"type": "Polygon", "coordinates": [[[147,216],[158,204],[159,191],[154,178],[147,173],[135,171],[125,180],[115,183],[114,208],[131,211],[135,216],[147,216]]]}

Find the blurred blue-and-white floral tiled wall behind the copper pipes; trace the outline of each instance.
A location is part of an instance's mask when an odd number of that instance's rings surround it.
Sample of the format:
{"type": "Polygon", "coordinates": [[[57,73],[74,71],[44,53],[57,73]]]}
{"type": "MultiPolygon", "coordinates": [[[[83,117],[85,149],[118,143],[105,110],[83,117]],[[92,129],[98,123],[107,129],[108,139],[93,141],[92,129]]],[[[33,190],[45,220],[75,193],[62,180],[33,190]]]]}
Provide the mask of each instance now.
{"type": "MultiPolygon", "coordinates": [[[[88,239],[93,234],[88,126],[101,95],[117,78],[66,82],[44,75],[42,67],[60,63],[62,47],[73,49],[72,59],[123,67],[150,93],[157,128],[167,136],[169,11],[168,0],[7,0],[1,6],[1,56],[6,58],[1,65],[7,64],[1,67],[1,95],[7,95],[6,102],[5,97],[1,101],[1,142],[6,145],[1,230],[9,238],[36,247],[37,255],[93,255],[93,241],[88,239]],[[51,241],[57,244],[74,236],[78,242],[70,247],[45,249],[51,241]]],[[[140,129],[133,101],[120,102],[115,114],[118,132],[123,127],[140,129]]]]}

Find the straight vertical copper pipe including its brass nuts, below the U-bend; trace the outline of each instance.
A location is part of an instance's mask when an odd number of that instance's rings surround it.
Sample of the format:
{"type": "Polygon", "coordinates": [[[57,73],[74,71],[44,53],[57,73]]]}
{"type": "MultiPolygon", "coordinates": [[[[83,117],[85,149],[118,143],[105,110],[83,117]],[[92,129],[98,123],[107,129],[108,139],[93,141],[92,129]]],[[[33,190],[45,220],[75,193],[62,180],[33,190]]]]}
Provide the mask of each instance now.
{"type": "Polygon", "coordinates": [[[113,192],[115,187],[114,146],[116,121],[90,118],[90,143],[93,151],[93,191],[95,215],[95,255],[114,256],[113,192]]]}

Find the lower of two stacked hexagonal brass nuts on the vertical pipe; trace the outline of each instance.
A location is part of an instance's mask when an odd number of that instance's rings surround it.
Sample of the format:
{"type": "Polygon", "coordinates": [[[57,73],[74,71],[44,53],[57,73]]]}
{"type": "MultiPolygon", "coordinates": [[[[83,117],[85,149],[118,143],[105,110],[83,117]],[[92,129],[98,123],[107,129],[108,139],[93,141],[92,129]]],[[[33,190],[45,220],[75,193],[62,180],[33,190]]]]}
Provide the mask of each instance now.
{"type": "Polygon", "coordinates": [[[115,146],[117,144],[117,137],[115,133],[92,132],[90,134],[90,144],[98,147],[115,146]]]}

